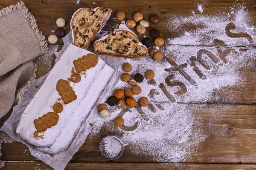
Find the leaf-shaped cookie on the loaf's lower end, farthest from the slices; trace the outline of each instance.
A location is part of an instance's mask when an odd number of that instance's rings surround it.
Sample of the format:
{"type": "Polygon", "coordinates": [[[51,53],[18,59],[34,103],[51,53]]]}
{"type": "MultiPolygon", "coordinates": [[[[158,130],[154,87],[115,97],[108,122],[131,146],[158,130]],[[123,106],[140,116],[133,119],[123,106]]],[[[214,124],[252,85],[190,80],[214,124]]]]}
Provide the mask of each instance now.
{"type": "Polygon", "coordinates": [[[35,128],[38,133],[42,132],[43,130],[47,130],[52,126],[55,126],[58,123],[58,114],[55,112],[48,112],[46,115],[39,117],[38,119],[34,120],[35,128]]]}

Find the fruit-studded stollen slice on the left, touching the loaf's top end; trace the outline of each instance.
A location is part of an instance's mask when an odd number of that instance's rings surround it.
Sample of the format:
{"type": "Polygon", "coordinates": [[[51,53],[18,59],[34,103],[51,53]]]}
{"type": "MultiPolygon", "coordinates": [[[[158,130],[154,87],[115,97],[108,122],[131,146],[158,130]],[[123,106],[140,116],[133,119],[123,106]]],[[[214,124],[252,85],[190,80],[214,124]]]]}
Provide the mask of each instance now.
{"type": "Polygon", "coordinates": [[[74,45],[86,49],[106,24],[111,12],[111,9],[100,7],[77,10],[70,22],[74,45]]]}

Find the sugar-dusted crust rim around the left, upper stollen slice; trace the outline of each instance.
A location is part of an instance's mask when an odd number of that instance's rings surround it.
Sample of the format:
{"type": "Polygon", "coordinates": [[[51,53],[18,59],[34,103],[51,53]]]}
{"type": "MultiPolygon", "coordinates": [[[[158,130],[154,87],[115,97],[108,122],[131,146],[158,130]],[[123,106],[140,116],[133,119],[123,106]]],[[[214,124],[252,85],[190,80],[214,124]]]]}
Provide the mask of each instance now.
{"type": "MultiPolygon", "coordinates": [[[[76,41],[76,36],[75,36],[75,28],[73,28],[73,25],[75,24],[74,22],[75,22],[75,19],[76,19],[76,17],[78,17],[79,15],[81,15],[82,14],[82,12],[83,11],[86,11],[86,12],[91,12],[91,11],[98,11],[98,10],[104,10],[104,9],[102,9],[101,7],[97,7],[97,8],[95,8],[95,9],[90,9],[90,8],[81,8],[81,9],[78,9],[76,12],[75,12],[75,14],[73,15],[73,17],[72,17],[72,20],[71,20],[71,24],[70,24],[70,26],[71,26],[71,30],[72,30],[72,37],[73,37],[73,44],[74,45],[76,45],[75,44],[75,41],[76,41]]],[[[105,18],[103,18],[103,22],[102,22],[102,25],[101,26],[99,26],[99,27],[97,27],[96,29],[94,29],[93,30],[93,35],[91,36],[91,37],[89,37],[89,39],[87,39],[86,40],[86,42],[84,43],[84,46],[82,46],[81,48],[84,48],[84,49],[86,49],[89,45],[90,45],[90,43],[94,40],[94,38],[97,36],[97,34],[100,32],[100,30],[103,28],[103,26],[105,26],[105,24],[107,23],[107,21],[108,21],[108,18],[110,17],[110,15],[111,15],[111,12],[112,12],[112,10],[110,9],[110,11],[108,12],[108,16],[107,17],[105,17],[105,18]]],[[[78,45],[76,45],[76,46],[78,46],[78,45]]],[[[80,46],[79,46],[80,47],[80,46]]]]}

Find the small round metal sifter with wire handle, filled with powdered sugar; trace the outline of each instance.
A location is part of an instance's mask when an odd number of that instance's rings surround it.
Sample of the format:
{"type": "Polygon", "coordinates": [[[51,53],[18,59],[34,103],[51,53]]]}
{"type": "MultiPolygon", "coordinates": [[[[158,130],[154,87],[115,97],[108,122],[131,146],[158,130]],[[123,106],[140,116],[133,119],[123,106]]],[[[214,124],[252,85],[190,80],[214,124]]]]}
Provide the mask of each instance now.
{"type": "Polygon", "coordinates": [[[103,138],[102,141],[100,142],[99,150],[85,152],[85,153],[76,153],[76,154],[84,154],[84,155],[79,156],[73,161],[76,161],[77,159],[83,156],[89,155],[91,153],[97,153],[97,152],[100,152],[104,158],[112,161],[119,158],[122,155],[122,153],[124,152],[124,147],[126,145],[127,144],[122,144],[122,141],[116,136],[107,136],[103,138]]]}

